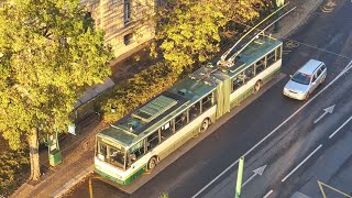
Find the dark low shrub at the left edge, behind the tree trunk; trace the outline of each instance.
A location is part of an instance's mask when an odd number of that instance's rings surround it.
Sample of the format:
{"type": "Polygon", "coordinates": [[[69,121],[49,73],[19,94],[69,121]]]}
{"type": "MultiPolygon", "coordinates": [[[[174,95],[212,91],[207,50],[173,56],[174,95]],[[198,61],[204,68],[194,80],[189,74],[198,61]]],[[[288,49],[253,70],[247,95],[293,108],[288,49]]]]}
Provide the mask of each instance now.
{"type": "Polygon", "coordinates": [[[29,156],[24,150],[0,153],[0,195],[7,195],[14,189],[19,182],[24,179],[20,175],[28,169],[29,156]]]}

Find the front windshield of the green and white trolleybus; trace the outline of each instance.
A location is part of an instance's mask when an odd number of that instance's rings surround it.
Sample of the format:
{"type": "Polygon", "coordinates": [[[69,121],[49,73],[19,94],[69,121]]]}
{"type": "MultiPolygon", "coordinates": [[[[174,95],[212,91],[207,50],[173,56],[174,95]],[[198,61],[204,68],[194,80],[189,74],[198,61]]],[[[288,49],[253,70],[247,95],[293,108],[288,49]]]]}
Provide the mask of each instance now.
{"type": "Polygon", "coordinates": [[[109,164],[116,165],[124,169],[124,151],[117,146],[109,145],[105,142],[98,141],[97,157],[109,164]]]}

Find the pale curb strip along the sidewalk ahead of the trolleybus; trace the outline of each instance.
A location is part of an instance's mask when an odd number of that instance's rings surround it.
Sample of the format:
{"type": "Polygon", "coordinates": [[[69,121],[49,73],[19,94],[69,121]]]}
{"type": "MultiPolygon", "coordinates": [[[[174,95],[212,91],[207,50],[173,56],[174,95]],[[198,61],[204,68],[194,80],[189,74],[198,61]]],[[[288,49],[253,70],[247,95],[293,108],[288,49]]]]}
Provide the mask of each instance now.
{"type": "Polygon", "coordinates": [[[88,175],[94,173],[94,170],[95,170],[95,166],[94,165],[89,166],[88,168],[82,170],[79,175],[68,180],[63,187],[61,187],[54,194],[52,194],[51,197],[54,197],[54,198],[63,197],[64,194],[66,194],[70,188],[76,186],[79,182],[81,182],[88,175]]]}

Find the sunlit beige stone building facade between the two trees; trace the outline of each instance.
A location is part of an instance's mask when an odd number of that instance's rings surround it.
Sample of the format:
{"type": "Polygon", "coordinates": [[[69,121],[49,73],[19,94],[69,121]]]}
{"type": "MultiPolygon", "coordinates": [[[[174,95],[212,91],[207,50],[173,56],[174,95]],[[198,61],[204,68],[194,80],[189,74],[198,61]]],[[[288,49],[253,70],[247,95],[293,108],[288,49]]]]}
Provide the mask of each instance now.
{"type": "Polygon", "coordinates": [[[140,50],[155,35],[152,16],[155,0],[81,0],[106,33],[116,57],[123,58],[140,50]]]}

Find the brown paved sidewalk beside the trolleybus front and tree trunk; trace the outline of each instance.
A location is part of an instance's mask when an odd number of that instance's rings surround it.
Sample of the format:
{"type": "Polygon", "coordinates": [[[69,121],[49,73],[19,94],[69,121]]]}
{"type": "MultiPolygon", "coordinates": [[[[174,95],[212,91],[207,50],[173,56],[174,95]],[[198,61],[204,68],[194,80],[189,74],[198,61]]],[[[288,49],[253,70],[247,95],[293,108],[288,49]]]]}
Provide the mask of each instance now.
{"type": "Polygon", "coordinates": [[[92,173],[95,135],[102,129],[102,124],[95,119],[77,131],[77,135],[69,135],[61,145],[63,163],[50,167],[47,151],[41,152],[42,177],[37,184],[24,183],[10,197],[59,197],[75,186],[84,177],[92,173]]]}

